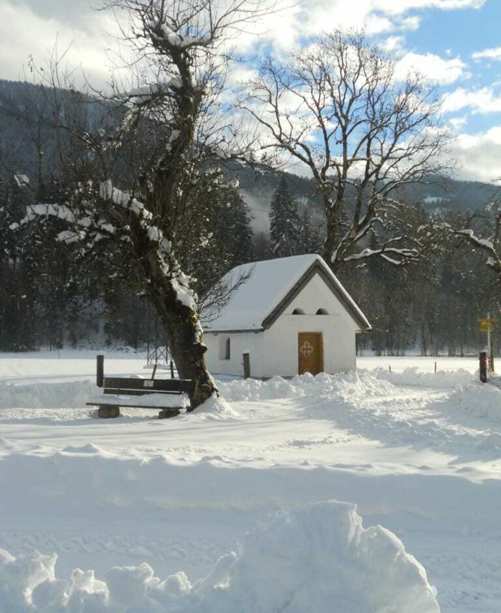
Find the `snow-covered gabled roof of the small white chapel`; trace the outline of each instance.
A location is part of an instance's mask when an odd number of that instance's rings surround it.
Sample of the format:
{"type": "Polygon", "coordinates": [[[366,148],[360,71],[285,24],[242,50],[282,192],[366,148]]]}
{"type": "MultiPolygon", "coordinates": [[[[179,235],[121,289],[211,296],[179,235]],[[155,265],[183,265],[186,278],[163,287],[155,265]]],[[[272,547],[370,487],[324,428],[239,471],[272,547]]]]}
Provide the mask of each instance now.
{"type": "Polygon", "coordinates": [[[321,274],[332,292],[345,306],[362,330],[370,330],[369,321],[350,294],[337,280],[324,260],[316,254],[280,257],[250,262],[232,268],[223,283],[235,284],[242,275],[250,275],[232,293],[218,317],[204,329],[208,332],[264,330],[281,313],[283,303],[292,300],[315,273],[321,274]]]}

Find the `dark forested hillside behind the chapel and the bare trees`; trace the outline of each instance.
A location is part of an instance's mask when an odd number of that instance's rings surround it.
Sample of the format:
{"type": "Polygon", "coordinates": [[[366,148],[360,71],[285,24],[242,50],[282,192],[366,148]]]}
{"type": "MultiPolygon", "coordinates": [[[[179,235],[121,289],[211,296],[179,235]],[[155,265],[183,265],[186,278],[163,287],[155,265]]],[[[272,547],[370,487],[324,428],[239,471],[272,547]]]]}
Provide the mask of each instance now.
{"type": "MultiPolygon", "coordinates": [[[[52,128],[57,104],[58,94],[40,86],[0,81],[0,350],[143,346],[155,340],[158,329],[151,308],[140,292],[113,282],[106,261],[90,262],[82,272],[71,246],[51,238],[64,230],[58,219],[22,234],[9,229],[27,204],[67,199],[52,128]]],[[[102,110],[88,99],[85,113],[93,123],[102,110]]],[[[323,210],[312,180],[236,162],[224,175],[228,186],[204,196],[212,214],[203,219],[200,237],[189,242],[189,257],[185,254],[200,295],[234,265],[321,253],[323,210]],[[210,249],[204,235],[216,238],[210,249]],[[200,246],[193,249],[194,244],[200,246]]],[[[412,205],[404,221],[413,232],[434,218],[459,223],[481,217],[496,194],[492,185],[448,179],[407,186],[399,198],[412,205]]],[[[353,206],[350,192],[346,203],[353,206]]],[[[376,248],[374,241],[369,236],[365,248],[376,248]]],[[[423,354],[463,354],[484,344],[476,318],[499,311],[499,281],[475,248],[435,246],[406,266],[370,257],[338,272],[373,326],[359,338],[361,350],[403,354],[417,347],[423,354]]]]}

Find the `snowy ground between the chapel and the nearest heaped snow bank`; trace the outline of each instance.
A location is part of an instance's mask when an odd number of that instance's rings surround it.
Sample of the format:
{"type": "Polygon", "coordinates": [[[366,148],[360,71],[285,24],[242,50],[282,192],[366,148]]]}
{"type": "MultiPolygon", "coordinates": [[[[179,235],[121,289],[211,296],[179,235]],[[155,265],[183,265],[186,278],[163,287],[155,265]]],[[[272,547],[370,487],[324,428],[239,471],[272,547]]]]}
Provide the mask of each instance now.
{"type": "Polygon", "coordinates": [[[0,410],[13,555],[56,551],[61,576],[148,562],[196,579],[273,511],[334,498],[403,540],[442,611],[501,610],[501,390],[468,373],[235,381],[205,412],[98,421],[88,388],[53,376],[47,398],[75,408],[19,408],[9,388],[0,410]]]}

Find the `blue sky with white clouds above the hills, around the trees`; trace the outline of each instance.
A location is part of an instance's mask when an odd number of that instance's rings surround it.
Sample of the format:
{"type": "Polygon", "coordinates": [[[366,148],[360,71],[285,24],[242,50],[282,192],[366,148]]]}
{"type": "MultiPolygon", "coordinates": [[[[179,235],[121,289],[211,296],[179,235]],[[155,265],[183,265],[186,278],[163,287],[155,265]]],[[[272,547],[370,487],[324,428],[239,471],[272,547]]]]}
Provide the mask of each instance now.
{"type": "MultiPolygon", "coordinates": [[[[321,30],[364,27],[399,70],[417,69],[437,84],[443,118],[456,135],[451,153],[458,177],[501,175],[501,0],[294,0],[289,6],[268,20],[258,44],[243,34],[239,49],[271,48],[283,58],[321,30]]],[[[72,41],[69,65],[101,85],[109,79],[105,48],[116,45],[116,31],[88,0],[0,0],[0,78],[23,78],[28,54],[43,63],[58,39],[59,50],[72,41]]]]}

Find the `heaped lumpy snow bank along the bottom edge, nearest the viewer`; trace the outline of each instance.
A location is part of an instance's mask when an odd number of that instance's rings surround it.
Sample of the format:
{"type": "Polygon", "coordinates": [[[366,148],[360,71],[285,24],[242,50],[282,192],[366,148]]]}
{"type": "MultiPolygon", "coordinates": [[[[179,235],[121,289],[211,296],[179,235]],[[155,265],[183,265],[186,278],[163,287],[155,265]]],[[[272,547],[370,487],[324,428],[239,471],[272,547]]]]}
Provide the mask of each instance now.
{"type": "Polygon", "coordinates": [[[56,579],[56,555],[0,550],[0,611],[44,613],[437,613],[435,588],[401,541],[364,529],[356,506],[328,501],[282,513],[248,533],[210,573],[161,581],[153,569],[75,569],[56,579]]]}

